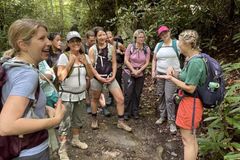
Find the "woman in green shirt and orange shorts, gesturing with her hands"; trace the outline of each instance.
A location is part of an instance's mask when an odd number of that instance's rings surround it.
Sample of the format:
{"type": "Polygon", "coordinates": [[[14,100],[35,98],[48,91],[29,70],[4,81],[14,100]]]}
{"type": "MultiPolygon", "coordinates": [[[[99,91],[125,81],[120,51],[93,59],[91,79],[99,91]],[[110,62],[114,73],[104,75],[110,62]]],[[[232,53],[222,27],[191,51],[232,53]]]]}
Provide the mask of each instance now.
{"type": "Polygon", "coordinates": [[[202,120],[203,104],[197,96],[196,89],[202,86],[206,80],[206,66],[202,58],[198,57],[199,36],[194,30],[185,30],[179,35],[179,48],[181,53],[188,57],[187,64],[176,76],[173,67],[168,68],[167,75],[158,75],[172,81],[184,93],[178,106],[176,125],[180,127],[184,145],[184,160],[196,160],[198,155],[198,143],[195,129],[202,120]]]}

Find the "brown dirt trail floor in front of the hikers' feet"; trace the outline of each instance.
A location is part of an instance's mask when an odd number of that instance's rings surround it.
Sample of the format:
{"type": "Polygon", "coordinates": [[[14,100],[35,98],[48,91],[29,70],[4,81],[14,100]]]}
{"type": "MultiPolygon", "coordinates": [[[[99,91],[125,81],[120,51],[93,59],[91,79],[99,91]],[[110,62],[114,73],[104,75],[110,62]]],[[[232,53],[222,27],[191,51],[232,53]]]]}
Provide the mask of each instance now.
{"type": "MultiPolygon", "coordinates": [[[[68,153],[72,160],[182,160],[183,145],[179,131],[172,135],[167,123],[156,125],[159,118],[158,99],[151,77],[145,79],[140,104],[140,119],[130,119],[127,123],[132,133],[117,128],[115,107],[110,106],[111,117],[99,114],[99,129],[92,130],[91,115],[82,109],[84,126],[80,140],[88,144],[87,150],[81,150],[68,144],[68,153]]],[[[54,156],[57,160],[57,156],[54,156]]]]}

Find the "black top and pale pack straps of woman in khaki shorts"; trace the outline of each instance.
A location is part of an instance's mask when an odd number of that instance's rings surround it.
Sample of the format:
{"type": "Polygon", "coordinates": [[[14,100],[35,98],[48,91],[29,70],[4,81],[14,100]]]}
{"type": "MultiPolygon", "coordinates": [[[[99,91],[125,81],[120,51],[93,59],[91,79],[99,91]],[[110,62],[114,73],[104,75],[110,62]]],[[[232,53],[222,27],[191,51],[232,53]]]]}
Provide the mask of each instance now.
{"type": "Polygon", "coordinates": [[[95,63],[94,68],[96,71],[104,78],[108,77],[112,73],[112,51],[113,46],[111,44],[107,44],[107,54],[101,52],[98,46],[93,45],[95,63]],[[100,53],[99,53],[100,52],[100,53]]]}

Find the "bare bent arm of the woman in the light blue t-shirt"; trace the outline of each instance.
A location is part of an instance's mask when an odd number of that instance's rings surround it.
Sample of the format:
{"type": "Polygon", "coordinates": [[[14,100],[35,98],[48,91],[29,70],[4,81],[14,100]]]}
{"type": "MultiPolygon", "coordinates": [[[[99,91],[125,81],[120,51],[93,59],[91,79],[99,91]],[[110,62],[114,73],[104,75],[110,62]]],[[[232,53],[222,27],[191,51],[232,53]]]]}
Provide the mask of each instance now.
{"type": "Polygon", "coordinates": [[[0,135],[20,135],[48,129],[60,123],[65,108],[59,101],[55,116],[44,119],[22,118],[29,99],[20,96],[9,96],[0,114],[0,135]]]}

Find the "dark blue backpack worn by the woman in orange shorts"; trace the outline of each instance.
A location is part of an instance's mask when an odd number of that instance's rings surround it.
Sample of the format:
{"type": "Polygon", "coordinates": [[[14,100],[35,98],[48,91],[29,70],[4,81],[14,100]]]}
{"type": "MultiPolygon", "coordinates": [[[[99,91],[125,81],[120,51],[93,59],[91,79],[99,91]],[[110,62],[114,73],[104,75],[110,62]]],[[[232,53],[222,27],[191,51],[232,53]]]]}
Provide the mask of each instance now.
{"type": "Polygon", "coordinates": [[[196,57],[203,59],[207,70],[206,81],[202,86],[197,87],[196,94],[205,108],[215,108],[223,101],[225,95],[222,68],[214,58],[205,53],[200,53],[196,57]]]}

